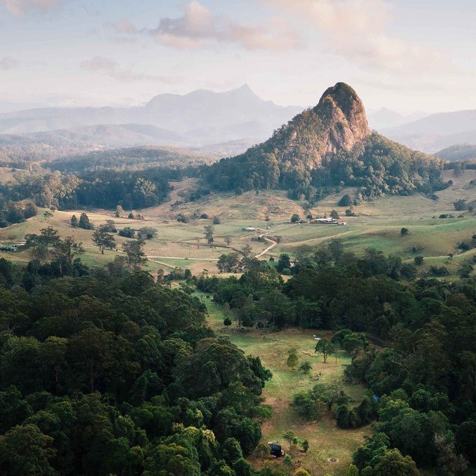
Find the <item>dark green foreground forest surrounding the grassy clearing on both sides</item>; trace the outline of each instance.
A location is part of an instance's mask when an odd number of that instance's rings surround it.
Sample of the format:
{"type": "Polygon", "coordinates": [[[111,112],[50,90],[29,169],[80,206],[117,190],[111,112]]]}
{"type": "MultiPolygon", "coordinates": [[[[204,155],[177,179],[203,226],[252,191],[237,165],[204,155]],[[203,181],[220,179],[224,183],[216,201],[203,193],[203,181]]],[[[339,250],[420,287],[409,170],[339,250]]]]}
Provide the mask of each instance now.
{"type": "Polygon", "coordinates": [[[343,430],[372,423],[349,475],[476,464],[474,278],[416,279],[414,265],[333,240],[294,266],[283,255],[245,259],[240,278],[186,273],[180,290],[141,271],[140,249],[88,268],[81,243],[54,229],[27,247],[27,266],[0,259],[2,474],[288,474],[245,459],[270,415],[260,395],[271,372],[207,327],[194,289],[238,327],[333,330],[315,352],[352,355],[345,377],[365,397],[318,384],[292,406],[309,420],[325,406],[343,430]]]}

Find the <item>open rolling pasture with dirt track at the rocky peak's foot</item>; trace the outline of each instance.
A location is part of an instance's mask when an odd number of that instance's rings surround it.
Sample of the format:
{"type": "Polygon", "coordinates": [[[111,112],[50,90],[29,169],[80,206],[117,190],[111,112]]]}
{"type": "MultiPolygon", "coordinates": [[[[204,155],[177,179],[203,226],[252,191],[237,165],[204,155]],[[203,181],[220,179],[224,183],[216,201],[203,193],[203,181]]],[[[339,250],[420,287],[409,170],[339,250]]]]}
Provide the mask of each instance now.
{"type": "MultiPolygon", "coordinates": [[[[332,238],[340,238],[348,250],[360,253],[367,247],[374,247],[385,254],[396,254],[404,260],[412,260],[415,254],[426,257],[421,271],[430,265],[447,266],[456,271],[461,261],[472,257],[474,250],[458,253],[457,244],[468,240],[476,232],[474,212],[455,212],[453,202],[464,198],[468,203],[476,202],[476,186],[470,181],[476,178],[476,170],[466,170],[461,177],[454,177],[452,172],[444,172],[445,179],[452,179],[454,184],[437,193],[439,200],[430,200],[426,196],[390,196],[372,202],[364,202],[355,207],[355,217],[344,217],[344,208],[337,205],[344,193],[353,195],[355,190],[343,189],[339,193],[326,197],[310,210],[313,216],[329,214],[337,210],[346,226],[318,224],[290,224],[287,221],[297,213],[304,217],[303,204],[286,197],[285,191],[260,191],[243,193],[210,193],[195,202],[186,203],[182,194],[193,188],[195,181],[186,179],[174,184],[170,200],[155,208],[137,210],[144,219],[114,218],[110,210],[88,212],[93,224],[104,223],[114,219],[116,226],[131,226],[140,229],[142,226],[153,226],[158,231],[157,238],[147,241],[145,251],[154,257],[149,263],[153,269],[180,266],[189,268],[193,273],[207,269],[210,273],[217,272],[215,261],[224,252],[241,250],[249,245],[253,254],[264,251],[270,243],[260,242],[256,238],[266,233],[271,239],[280,237],[280,243],[268,252],[264,258],[278,257],[282,252],[299,256],[313,252],[316,247],[332,238]],[[179,223],[179,213],[189,218],[188,223],[179,223]],[[198,219],[203,213],[217,216],[221,220],[215,225],[215,242],[210,247],[205,244],[204,226],[211,224],[211,219],[198,219]],[[443,213],[452,213],[456,218],[440,219],[443,213]],[[402,227],[409,229],[407,236],[400,235],[402,227]],[[245,227],[253,227],[257,231],[244,231],[245,227]],[[226,243],[229,238],[230,243],[226,243]],[[412,251],[416,247],[417,253],[412,251]],[[454,254],[453,259],[448,255],[454,254]],[[168,265],[168,266],[167,266],[168,265]]],[[[91,231],[72,229],[69,220],[72,215],[79,217],[81,210],[69,212],[55,211],[50,219],[41,215],[27,222],[9,226],[0,230],[0,243],[20,242],[26,233],[38,233],[41,228],[53,226],[62,236],[75,236],[85,245],[87,254],[84,260],[88,264],[103,264],[114,259],[116,252],[107,251],[101,255],[91,243],[91,231]]],[[[118,247],[125,238],[117,237],[118,247]]],[[[10,259],[27,261],[22,254],[8,254],[10,259]]]]}

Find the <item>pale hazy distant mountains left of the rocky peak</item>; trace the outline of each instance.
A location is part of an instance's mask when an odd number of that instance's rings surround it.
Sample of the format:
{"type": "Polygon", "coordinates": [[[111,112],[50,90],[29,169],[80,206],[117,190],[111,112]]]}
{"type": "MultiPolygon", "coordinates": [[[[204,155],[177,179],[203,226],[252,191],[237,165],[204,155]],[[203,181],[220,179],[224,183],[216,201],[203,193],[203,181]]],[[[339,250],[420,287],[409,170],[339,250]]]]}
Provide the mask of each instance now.
{"type": "MultiPolygon", "coordinates": [[[[186,95],[161,94],[143,107],[42,108],[0,114],[0,132],[18,135],[73,129],[72,133],[81,134],[81,128],[87,126],[127,125],[130,134],[135,125],[141,135],[151,135],[151,139],[142,138],[146,144],[151,140],[154,144],[196,146],[243,139],[257,142],[300,109],[261,100],[245,85],[224,93],[196,90],[186,95]],[[170,137],[165,140],[162,132],[156,137],[156,130],[144,131],[146,126],[170,131],[165,133],[170,137]]],[[[121,135],[124,133],[120,131],[121,135]]],[[[128,145],[139,144],[140,139],[130,137],[128,145]]]]}

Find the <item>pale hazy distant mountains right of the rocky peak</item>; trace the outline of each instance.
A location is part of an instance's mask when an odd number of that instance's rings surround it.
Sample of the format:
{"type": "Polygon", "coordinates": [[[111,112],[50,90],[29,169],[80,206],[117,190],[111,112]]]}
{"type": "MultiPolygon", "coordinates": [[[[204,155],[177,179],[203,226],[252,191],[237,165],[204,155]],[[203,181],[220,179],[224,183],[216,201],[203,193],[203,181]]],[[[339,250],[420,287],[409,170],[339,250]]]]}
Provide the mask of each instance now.
{"type": "Polygon", "coordinates": [[[454,144],[476,143],[476,109],[430,114],[380,132],[407,147],[433,154],[454,144]]]}

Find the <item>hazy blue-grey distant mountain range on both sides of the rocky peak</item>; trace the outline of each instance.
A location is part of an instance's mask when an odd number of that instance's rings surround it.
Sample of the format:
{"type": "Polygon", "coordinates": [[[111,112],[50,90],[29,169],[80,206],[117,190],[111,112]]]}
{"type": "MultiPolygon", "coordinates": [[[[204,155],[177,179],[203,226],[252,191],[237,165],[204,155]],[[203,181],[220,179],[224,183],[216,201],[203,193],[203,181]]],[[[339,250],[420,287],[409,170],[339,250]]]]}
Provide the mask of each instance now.
{"type": "MultiPolygon", "coordinates": [[[[14,104],[4,106],[8,110],[14,104]]],[[[6,144],[23,150],[28,144],[48,160],[69,154],[69,149],[76,154],[156,145],[229,156],[266,140],[301,110],[262,100],[247,85],[224,93],[161,94],[140,107],[26,109],[0,114],[0,152],[6,144]]],[[[403,115],[382,108],[369,114],[368,121],[371,129],[428,154],[476,143],[476,110],[403,115]]]]}

